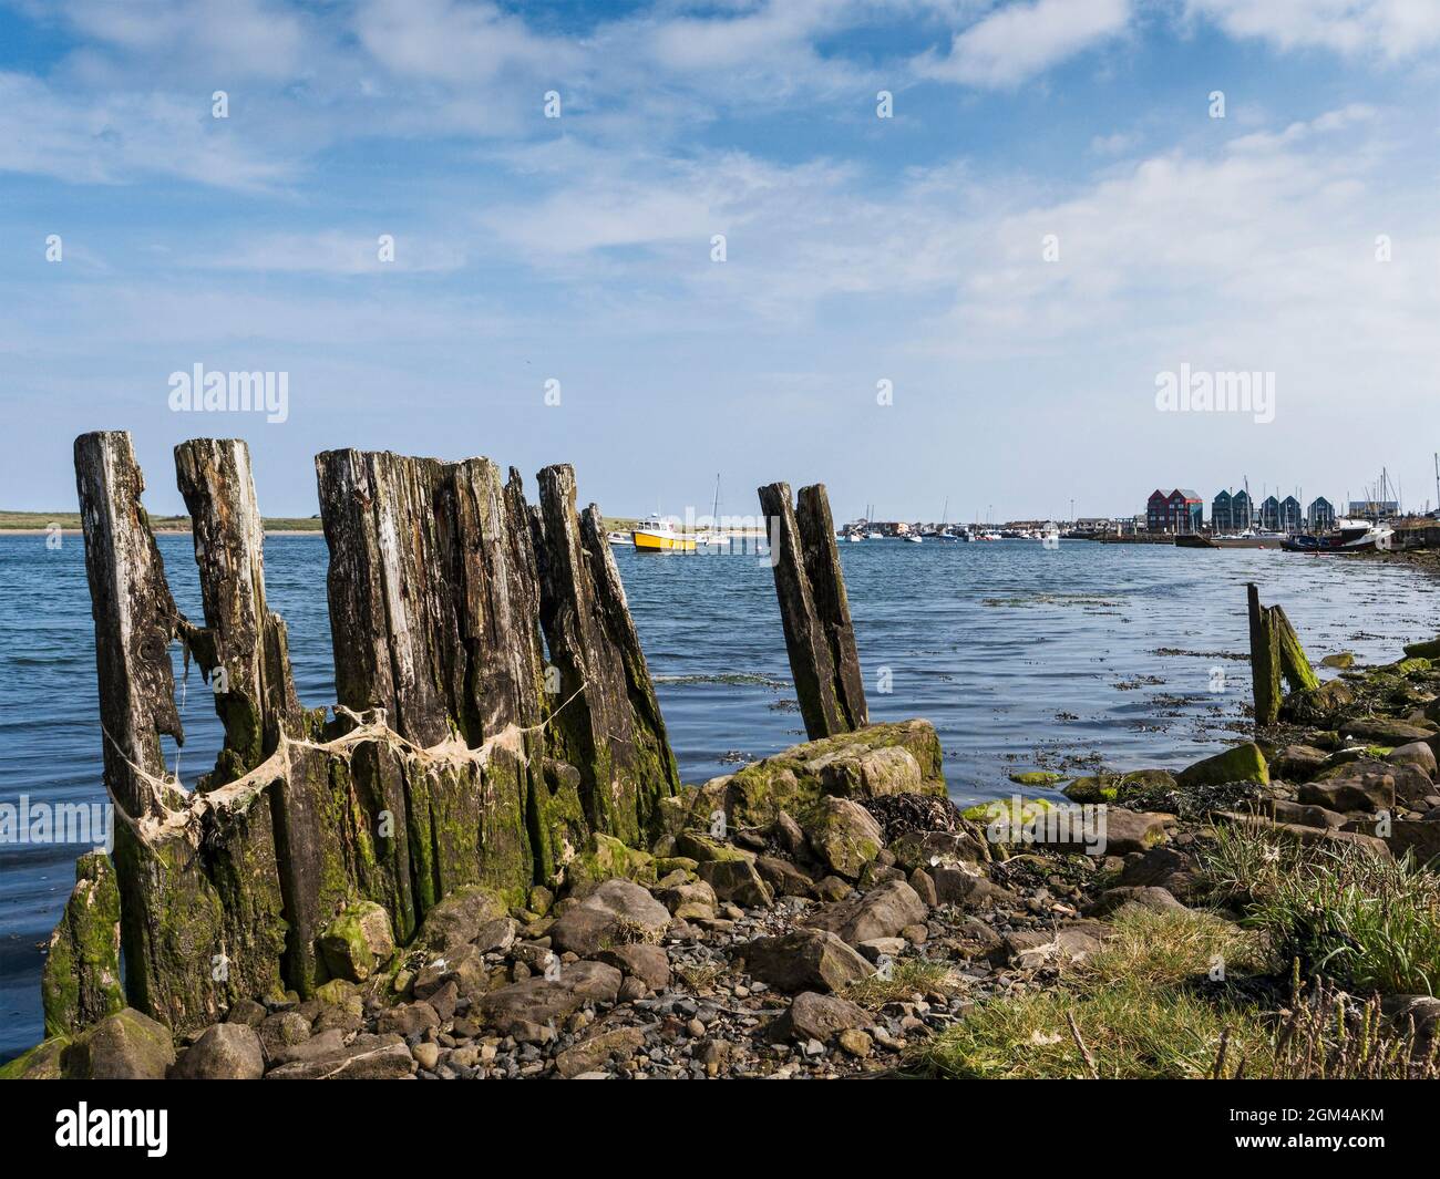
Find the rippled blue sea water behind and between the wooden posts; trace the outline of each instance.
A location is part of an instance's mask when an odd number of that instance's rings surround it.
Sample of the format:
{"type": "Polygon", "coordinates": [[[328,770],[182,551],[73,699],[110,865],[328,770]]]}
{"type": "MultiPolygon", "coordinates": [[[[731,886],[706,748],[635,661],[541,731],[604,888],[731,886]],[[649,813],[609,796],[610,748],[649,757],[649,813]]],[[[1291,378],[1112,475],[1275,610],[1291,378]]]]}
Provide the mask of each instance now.
{"type": "MultiPolygon", "coordinates": [[[[189,537],[161,537],[180,607],[202,618],[189,537]]],[[[929,717],[960,802],[1007,773],[1182,766],[1243,728],[1244,583],[1286,607],[1313,656],[1385,661],[1433,635],[1440,583],[1411,569],[1236,550],[1034,541],[841,546],[874,720],[929,717]]],[[[804,740],[770,570],[753,556],[616,550],[687,782],[804,740]]],[[[327,548],[271,537],[269,602],[289,623],[307,705],[334,698],[327,548]]],[[[209,690],[180,692],[187,783],[220,741],[209,690]]],[[[176,750],[167,756],[174,762],[176,750]]],[[[0,537],[0,802],[102,802],[84,548],[0,537]]],[[[73,845],[0,846],[0,1060],[40,1038],[40,946],[73,884],[73,845]]]]}

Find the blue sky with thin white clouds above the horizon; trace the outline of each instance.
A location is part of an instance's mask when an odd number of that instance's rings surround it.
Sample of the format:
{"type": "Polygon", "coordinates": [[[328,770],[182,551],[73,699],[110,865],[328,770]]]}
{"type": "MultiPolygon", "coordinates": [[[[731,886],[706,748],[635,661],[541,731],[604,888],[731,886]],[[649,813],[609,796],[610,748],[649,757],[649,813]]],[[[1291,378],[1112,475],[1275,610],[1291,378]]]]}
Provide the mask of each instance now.
{"type": "Polygon", "coordinates": [[[196,435],[274,515],[337,446],[615,514],[1433,504],[1437,48],[1431,0],[0,0],[0,507],[98,428],[154,511],[196,435]],[[196,364],[288,419],[171,412],[196,364]],[[1182,364],[1274,420],[1158,410],[1182,364]]]}

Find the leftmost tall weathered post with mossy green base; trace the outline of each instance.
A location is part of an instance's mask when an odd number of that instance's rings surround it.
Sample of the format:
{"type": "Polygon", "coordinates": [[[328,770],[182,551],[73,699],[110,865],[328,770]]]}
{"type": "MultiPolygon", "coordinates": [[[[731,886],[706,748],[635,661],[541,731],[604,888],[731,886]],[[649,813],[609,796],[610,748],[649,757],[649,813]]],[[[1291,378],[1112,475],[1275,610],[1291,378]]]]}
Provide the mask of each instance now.
{"type": "Polygon", "coordinates": [[[171,1026],[212,1022],[210,977],[223,953],[219,895],[202,871],[199,835],[170,822],[184,799],[167,785],[161,734],[184,740],[174,703],[170,642],[180,613],[140,495],[145,481],[130,435],[75,439],[75,484],[95,619],[98,734],[115,805],[125,993],[171,1026]]]}

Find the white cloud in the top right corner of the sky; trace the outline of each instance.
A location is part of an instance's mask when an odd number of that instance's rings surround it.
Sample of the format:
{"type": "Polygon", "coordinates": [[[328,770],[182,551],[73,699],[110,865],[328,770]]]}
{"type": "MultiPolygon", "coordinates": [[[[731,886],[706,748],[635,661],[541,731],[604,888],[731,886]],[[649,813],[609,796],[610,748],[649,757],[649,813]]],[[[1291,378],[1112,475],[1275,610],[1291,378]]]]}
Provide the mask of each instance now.
{"type": "Polygon", "coordinates": [[[1282,49],[1413,58],[1440,43],[1436,0],[1188,0],[1192,16],[1233,37],[1263,37],[1282,49]]]}

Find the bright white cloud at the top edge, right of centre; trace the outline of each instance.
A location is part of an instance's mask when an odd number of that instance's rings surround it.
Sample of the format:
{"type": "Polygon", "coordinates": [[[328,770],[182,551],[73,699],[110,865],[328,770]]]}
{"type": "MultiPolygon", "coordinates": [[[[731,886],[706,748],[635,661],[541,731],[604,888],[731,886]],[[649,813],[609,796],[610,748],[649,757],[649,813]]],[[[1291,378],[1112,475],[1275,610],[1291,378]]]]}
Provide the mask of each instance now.
{"type": "Polygon", "coordinates": [[[939,81],[1007,88],[1125,32],[1130,0],[1034,0],[996,9],[958,33],[948,58],[917,68],[939,81]]]}

